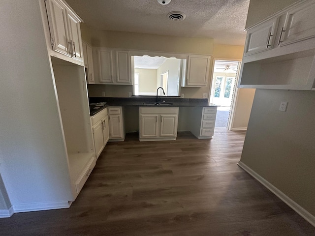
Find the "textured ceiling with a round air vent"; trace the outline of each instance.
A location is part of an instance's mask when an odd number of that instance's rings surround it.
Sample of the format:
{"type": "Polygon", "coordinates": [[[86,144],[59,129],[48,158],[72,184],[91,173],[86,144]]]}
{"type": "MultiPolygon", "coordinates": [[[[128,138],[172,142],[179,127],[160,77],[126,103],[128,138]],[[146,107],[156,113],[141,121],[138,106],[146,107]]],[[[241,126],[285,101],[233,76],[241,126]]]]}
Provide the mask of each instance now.
{"type": "Polygon", "coordinates": [[[95,29],[214,38],[215,43],[244,45],[250,0],[66,0],[95,29]],[[182,11],[186,19],[166,15],[182,11]]]}

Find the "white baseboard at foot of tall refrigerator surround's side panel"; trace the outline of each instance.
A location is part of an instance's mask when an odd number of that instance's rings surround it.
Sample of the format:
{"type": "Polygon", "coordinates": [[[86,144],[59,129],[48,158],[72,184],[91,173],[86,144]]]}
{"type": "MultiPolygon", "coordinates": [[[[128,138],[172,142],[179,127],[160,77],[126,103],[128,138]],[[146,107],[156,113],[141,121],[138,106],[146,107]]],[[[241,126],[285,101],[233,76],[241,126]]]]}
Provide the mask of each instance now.
{"type": "Polygon", "coordinates": [[[30,203],[30,204],[16,204],[12,206],[14,212],[29,212],[37,210],[53,210],[53,209],[63,209],[69,208],[70,203],[68,201],[62,202],[46,202],[46,203],[30,203]]]}

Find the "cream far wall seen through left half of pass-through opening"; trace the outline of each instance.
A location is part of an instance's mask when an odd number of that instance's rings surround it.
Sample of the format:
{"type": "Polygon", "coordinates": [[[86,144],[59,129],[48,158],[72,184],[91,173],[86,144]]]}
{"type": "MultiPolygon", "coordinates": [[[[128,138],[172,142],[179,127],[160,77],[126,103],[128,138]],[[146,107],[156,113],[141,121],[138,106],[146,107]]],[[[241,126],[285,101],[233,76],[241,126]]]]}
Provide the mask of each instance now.
{"type": "Polygon", "coordinates": [[[134,69],[139,73],[139,92],[157,92],[157,69],[134,69]]]}

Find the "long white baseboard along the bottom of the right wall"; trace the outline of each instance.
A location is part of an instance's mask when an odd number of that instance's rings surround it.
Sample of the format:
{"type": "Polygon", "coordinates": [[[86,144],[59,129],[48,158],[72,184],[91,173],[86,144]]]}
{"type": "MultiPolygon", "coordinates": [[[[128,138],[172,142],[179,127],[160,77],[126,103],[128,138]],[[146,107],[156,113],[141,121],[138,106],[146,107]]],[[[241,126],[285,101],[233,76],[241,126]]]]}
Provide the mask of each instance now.
{"type": "Polygon", "coordinates": [[[258,180],[262,185],[264,185],[273,194],[275,194],[278,198],[280,198],[287,206],[291,207],[294,211],[296,211],[296,213],[298,213],[300,216],[302,216],[305,220],[307,220],[311,225],[313,225],[315,227],[315,216],[314,215],[312,215],[306,209],[304,209],[303,207],[298,205],[296,202],[294,202],[292,199],[290,199],[288,196],[286,196],[282,191],[280,191],[278,188],[276,188],[274,185],[272,185],[266,179],[264,179],[263,177],[258,175],[256,172],[254,172],[250,167],[248,167],[243,162],[239,161],[238,166],[241,167],[248,174],[250,174],[252,177],[254,177],[256,180],[258,180]]]}

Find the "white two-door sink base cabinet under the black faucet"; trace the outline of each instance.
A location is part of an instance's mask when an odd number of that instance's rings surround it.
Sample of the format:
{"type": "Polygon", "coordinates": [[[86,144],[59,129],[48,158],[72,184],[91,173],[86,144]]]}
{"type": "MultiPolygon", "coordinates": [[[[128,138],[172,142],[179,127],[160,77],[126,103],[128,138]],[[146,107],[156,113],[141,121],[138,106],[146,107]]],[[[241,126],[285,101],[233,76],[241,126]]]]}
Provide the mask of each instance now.
{"type": "Polygon", "coordinates": [[[176,140],[178,107],[140,107],[140,141],[176,140]]]}

